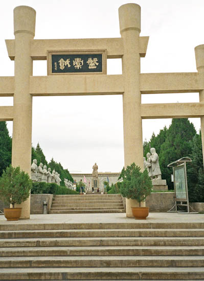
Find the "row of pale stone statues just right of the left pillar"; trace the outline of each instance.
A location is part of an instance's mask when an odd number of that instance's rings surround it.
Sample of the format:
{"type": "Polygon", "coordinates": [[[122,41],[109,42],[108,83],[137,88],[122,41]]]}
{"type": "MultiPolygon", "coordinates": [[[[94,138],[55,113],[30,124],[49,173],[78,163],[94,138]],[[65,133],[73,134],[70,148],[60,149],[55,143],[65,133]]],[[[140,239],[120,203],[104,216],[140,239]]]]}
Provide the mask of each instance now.
{"type": "Polygon", "coordinates": [[[55,169],[51,173],[51,169],[42,163],[37,167],[37,160],[33,159],[31,165],[31,179],[33,182],[47,182],[47,183],[56,183],[60,185],[60,174],[55,172],[55,169]]]}

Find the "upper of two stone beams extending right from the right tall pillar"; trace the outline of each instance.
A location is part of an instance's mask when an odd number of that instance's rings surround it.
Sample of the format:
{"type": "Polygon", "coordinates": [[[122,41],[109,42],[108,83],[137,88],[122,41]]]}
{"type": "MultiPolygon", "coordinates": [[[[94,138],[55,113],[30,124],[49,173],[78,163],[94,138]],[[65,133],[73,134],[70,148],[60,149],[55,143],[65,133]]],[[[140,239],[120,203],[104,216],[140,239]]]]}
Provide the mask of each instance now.
{"type": "Polygon", "coordinates": [[[204,73],[142,73],[142,93],[199,92],[204,89],[204,73]]]}

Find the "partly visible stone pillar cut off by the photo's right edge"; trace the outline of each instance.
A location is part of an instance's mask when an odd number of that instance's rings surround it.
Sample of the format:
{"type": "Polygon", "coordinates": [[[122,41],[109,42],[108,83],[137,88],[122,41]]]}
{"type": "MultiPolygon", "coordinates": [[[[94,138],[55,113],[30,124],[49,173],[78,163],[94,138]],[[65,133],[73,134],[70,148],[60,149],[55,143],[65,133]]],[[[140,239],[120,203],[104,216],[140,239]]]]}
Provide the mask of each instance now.
{"type": "MultiPolygon", "coordinates": [[[[198,72],[204,73],[204,45],[198,45],[195,47],[195,60],[196,68],[198,72]]],[[[204,106],[204,89],[199,92],[199,101],[204,106]]],[[[204,116],[200,118],[200,130],[202,139],[202,158],[204,165],[204,116]]]]}

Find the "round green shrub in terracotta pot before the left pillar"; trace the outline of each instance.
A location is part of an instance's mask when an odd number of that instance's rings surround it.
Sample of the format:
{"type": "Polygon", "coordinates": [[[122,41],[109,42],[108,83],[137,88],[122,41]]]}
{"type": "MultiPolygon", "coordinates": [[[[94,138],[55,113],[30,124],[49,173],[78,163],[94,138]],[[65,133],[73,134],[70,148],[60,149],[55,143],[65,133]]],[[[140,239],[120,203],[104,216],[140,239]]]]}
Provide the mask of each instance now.
{"type": "Polygon", "coordinates": [[[15,204],[26,201],[30,195],[32,180],[20,167],[9,166],[3,171],[0,178],[0,199],[12,208],[4,208],[4,215],[8,221],[16,221],[20,218],[21,208],[15,208],[15,204]]]}

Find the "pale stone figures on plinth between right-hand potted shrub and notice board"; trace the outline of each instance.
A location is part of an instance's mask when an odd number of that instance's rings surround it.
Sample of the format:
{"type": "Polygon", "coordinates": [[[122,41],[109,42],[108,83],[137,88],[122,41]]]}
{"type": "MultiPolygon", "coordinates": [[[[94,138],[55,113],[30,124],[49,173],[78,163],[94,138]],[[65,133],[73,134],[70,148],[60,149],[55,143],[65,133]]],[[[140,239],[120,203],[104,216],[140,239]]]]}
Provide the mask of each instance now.
{"type": "Polygon", "coordinates": [[[147,160],[144,157],[144,169],[147,169],[148,175],[151,179],[162,179],[162,173],[160,170],[160,163],[158,162],[158,154],[155,148],[150,149],[151,153],[147,153],[147,160]]]}

